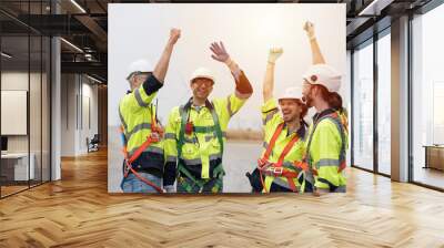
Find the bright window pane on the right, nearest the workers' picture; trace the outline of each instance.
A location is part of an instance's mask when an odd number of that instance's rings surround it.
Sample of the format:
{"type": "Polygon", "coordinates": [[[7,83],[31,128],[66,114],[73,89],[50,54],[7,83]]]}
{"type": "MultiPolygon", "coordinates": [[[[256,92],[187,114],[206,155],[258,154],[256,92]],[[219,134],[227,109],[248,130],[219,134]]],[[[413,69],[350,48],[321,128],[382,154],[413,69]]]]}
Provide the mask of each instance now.
{"type": "Polygon", "coordinates": [[[373,42],[353,56],[353,162],[373,170],[373,42]]]}

